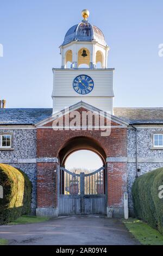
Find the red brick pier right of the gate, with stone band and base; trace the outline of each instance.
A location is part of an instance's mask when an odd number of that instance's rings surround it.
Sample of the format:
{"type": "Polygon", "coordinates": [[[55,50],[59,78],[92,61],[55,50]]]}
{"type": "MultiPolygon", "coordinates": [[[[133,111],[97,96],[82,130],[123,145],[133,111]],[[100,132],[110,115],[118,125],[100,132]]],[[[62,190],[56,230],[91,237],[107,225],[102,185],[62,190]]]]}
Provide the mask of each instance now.
{"type": "Polygon", "coordinates": [[[124,217],[123,193],[127,192],[127,160],[115,157],[115,162],[107,162],[108,217],[124,217]],[[117,161],[117,162],[116,162],[117,161]]]}

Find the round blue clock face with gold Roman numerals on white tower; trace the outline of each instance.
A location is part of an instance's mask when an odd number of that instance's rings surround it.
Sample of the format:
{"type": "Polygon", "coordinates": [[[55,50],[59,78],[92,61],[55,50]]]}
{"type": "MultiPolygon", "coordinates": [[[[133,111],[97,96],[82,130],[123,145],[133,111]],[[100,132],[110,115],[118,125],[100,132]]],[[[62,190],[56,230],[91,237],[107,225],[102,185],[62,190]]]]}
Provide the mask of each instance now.
{"type": "Polygon", "coordinates": [[[93,90],[94,82],[90,76],[80,75],[73,80],[73,89],[79,94],[88,94],[93,90]]]}

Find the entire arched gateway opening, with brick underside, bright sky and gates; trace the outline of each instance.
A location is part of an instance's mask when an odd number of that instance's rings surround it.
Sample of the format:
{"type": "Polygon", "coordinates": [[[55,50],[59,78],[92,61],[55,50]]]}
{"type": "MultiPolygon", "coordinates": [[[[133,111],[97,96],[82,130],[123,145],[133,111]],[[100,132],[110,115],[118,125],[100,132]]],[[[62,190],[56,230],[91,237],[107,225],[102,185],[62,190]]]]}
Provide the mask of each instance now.
{"type": "Polygon", "coordinates": [[[59,160],[59,214],[106,214],[106,155],[98,141],[84,136],[69,139],[59,152],[59,160]],[[74,168],[65,168],[68,160],[74,168]]]}

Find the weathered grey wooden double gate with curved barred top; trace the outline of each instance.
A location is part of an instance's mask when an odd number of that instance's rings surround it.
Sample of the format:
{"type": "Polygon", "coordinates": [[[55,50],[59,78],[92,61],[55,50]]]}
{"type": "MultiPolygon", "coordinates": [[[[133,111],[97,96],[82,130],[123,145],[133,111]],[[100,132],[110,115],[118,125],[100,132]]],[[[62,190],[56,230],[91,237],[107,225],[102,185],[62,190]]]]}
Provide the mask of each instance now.
{"type": "Polygon", "coordinates": [[[101,167],[95,172],[72,173],[58,170],[59,215],[106,214],[106,172],[101,167]]]}

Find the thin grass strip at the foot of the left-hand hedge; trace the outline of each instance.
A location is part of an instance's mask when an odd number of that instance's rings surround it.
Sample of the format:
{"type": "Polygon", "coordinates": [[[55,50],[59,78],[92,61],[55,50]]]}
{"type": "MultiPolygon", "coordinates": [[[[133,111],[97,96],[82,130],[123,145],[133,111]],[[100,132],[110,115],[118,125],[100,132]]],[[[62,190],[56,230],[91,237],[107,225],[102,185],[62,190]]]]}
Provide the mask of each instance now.
{"type": "Polygon", "coordinates": [[[21,217],[17,218],[16,220],[9,222],[8,225],[37,223],[37,222],[43,222],[43,221],[48,221],[48,220],[49,220],[48,217],[22,215],[21,217]]]}

